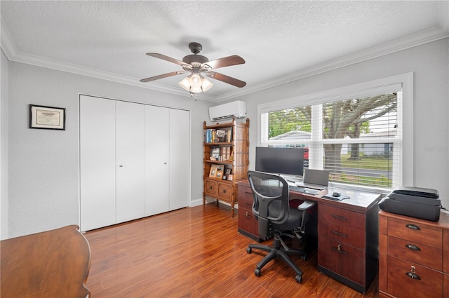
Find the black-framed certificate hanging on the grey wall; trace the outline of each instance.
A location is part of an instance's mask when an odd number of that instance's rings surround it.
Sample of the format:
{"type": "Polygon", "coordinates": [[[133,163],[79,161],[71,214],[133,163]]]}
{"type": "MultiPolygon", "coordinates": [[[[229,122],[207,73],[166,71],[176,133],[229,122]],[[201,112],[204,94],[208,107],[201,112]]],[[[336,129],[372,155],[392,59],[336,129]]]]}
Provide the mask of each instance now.
{"type": "Polygon", "coordinates": [[[65,130],[65,108],[29,104],[29,128],[65,130]]]}

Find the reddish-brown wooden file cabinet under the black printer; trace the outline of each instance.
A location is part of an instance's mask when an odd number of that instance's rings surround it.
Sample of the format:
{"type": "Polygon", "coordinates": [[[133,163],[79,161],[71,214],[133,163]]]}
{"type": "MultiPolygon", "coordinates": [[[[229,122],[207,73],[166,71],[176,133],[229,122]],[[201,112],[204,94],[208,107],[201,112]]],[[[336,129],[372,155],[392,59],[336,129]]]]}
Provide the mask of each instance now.
{"type": "Polygon", "coordinates": [[[380,297],[449,298],[449,213],[438,222],[379,213],[380,297]]]}

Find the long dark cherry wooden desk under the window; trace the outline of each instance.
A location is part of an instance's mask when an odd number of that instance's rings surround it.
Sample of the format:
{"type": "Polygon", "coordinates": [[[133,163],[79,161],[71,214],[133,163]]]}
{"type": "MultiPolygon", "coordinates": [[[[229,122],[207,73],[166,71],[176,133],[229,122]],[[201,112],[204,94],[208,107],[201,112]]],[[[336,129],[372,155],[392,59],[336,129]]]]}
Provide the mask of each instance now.
{"type": "MultiPolygon", "coordinates": [[[[318,205],[318,269],[359,292],[366,292],[377,273],[378,219],[380,194],[339,189],[349,196],[343,201],[290,191],[290,200],[314,201],[318,205]]],[[[257,221],[251,206],[249,182],[239,182],[239,233],[259,241],[257,221]]],[[[306,226],[307,230],[307,226],[306,226]]],[[[307,232],[307,231],[306,231],[307,232]]],[[[310,241],[308,239],[308,241],[310,241]]]]}

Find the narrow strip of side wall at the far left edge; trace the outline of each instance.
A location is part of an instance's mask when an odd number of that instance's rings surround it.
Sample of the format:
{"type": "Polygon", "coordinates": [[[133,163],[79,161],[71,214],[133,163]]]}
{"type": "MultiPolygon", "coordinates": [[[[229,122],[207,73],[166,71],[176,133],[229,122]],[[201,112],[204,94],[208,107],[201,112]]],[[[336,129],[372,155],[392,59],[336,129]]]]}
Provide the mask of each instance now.
{"type": "Polygon", "coordinates": [[[0,50],[0,239],[8,238],[8,76],[9,64],[0,50]]]}

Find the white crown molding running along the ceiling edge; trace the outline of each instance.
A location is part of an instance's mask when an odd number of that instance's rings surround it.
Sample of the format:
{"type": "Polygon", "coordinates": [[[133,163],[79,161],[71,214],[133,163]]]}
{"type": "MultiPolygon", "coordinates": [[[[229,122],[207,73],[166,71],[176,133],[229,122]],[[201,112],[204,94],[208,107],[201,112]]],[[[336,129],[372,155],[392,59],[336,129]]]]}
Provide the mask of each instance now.
{"type": "MultiPolygon", "coordinates": [[[[441,4],[443,10],[448,10],[449,5],[441,4]]],[[[318,65],[314,65],[313,67],[307,67],[304,69],[300,69],[297,72],[293,72],[290,74],[286,74],[284,76],[279,77],[274,81],[269,81],[265,83],[256,84],[253,86],[246,86],[246,88],[242,90],[232,91],[230,93],[226,93],[224,95],[219,96],[210,96],[206,94],[201,94],[200,100],[206,100],[210,102],[222,102],[225,100],[231,100],[236,97],[241,97],[243,95],[248,95],[250,93],[255,93],[260,90],[265,90],[268,88],[273,88],[276,86],[280,86],[286,83],[290,83],[293,81],[297,81],[300,79],[307,78],[309,76],[315,76],[316,74],[321,74],[323,72],[329,72],[334,69],[339,69],[342,67],[347,67],[349,65],[354,65],[359,62],[363,62],[366,60],[373,59],[375,57],[380,57],[382,55],[388,55],[391,53],[396,53],[400,50],[406,50],[408,48],[413,48],[415,46],[420,46],[424,43],[429,43],[432,41],[438,41],[440,39],[445,39],[449,37],[449,21],[448,21],[448,13],[441,13],[444,18],[440,18],[441,25],[443,27],[434,27],[428,30],[424,30],[422,32],[418,32],[416,34],[410,34],[408,36],[404,36],[400,39],[396,39],[394,41],[389,41],[387,43],[381,43],[380,45],[373,46],[371,48],[367,48],[365,50],[359,50],[357,52],[351,53],[349,55],[344,55],[342,57],[337,57],[333,60],[328,60],[326,62],[320,63],[318,65]]],[[[113,74],[110,72],[102,72],[97,69],[91,69],[88,67],[82,67],[79,65],[70,64],[67,62],[60,62],[57,60],[51,60],[44,57],[39,57],[35,55],[29,55],[25,53],[20,53],[16,48],[13,40],[11,39],[11,35],[6,29],[6,25],[4,21],[1,20],[1,49],[4,51],[8,60],[14,62],[21,62],[29,65],[35,65],[39,67],[46,67],[50,69],[60,70],[62,72],[69,72],[72,74],[79,74],[82,76],[90,76],[96,79],[103,79],[107,81],[113,81],[116,83],[123,83],[130,86],[137,86],[141,88],[147,88],[151,90],[156,90],[163,93],[170,93],[173,95],[178,95],[182,97],[190,97],[188,93],[185,93],[183,90],[179,90],[178,88],[171,88],[162,86],[158,83],[140,83],[135,78],[131,78],[129,76],[121,76],[119,74],[113,74]]]]}

